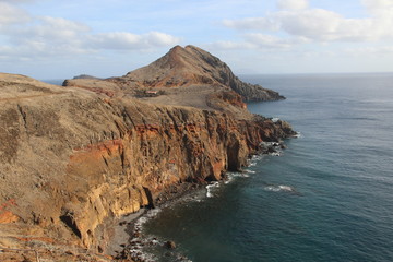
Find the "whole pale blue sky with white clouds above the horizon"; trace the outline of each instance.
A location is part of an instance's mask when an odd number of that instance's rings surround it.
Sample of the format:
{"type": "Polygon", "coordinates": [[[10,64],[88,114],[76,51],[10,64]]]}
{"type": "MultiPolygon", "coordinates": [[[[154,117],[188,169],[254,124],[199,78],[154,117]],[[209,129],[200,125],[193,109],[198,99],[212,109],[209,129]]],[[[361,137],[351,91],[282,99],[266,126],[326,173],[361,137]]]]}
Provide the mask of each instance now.
{"type": "Polygon", "coordinates": [[[0,0],[0,72],[118,76],[176,45],[236,74],[393,72],[393,0],[0,0]]]}

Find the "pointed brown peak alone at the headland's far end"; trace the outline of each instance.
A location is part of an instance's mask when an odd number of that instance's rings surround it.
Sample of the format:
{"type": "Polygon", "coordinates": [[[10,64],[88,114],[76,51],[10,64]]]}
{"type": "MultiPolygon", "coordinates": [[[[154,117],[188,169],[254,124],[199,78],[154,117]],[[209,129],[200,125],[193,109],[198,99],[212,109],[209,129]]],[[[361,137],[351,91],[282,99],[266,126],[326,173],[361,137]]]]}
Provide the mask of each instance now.
{"type": "Polygon", "coordinates": [[[179,87],[190,85],[227,86],[245,100],[284,99],[278,93],[240,81],[217,57],[195,46],[176,46],[151,64],[122,76],[146,87],[179,87]]]}

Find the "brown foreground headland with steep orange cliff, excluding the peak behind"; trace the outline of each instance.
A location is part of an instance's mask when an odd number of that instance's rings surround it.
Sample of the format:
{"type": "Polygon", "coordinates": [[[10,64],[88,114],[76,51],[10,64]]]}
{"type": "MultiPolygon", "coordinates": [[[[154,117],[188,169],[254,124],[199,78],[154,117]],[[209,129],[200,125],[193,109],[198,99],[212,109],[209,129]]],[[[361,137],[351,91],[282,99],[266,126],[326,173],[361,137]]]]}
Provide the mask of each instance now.
{"type": "MultiPolygon", "coordinates": [[[[170,187],[219,180],[260,142],[293,134],[282,121],[92,91],[0,74],[1,247],[86,248],[105,261],[108,222],[170,187]]],[[[213,96],[215,106],[245,107],[230,92],[213,96]]]]}

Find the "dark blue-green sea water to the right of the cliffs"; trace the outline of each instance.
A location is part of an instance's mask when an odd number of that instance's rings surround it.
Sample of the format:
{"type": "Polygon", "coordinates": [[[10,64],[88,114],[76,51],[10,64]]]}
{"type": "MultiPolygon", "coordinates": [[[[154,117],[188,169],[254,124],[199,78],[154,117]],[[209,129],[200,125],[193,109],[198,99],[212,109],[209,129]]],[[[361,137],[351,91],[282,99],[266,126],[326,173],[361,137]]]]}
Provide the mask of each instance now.
{"type": "Polygon", "coordinates": [[[144,234],[193,262],[393,261],[393,74],[242,79],[287,97],[248,107],[300,138],[212,186],[211,198],[163,209],[144,234]]]}

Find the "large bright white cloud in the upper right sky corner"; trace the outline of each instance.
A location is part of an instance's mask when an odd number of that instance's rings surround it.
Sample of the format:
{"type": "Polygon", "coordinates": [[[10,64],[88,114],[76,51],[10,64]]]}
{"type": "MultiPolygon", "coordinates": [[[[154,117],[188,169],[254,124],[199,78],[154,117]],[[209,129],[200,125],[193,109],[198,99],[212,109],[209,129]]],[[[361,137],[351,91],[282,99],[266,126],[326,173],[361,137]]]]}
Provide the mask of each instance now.
{"type": "Polygon", "coordinates": [[[243,34],[246,41],[276,48],[287,48],[303,41],[366,43],[393,38],[393,1],[362,2],[370,11],[369,17],[347,19],[333,11],[307,8],[307,1],[303,0],[283,0],[278,4],[287,10],[269,13],[264,17],[226,20],[223,24],[240,32],[251,32],[243,34]]]}

